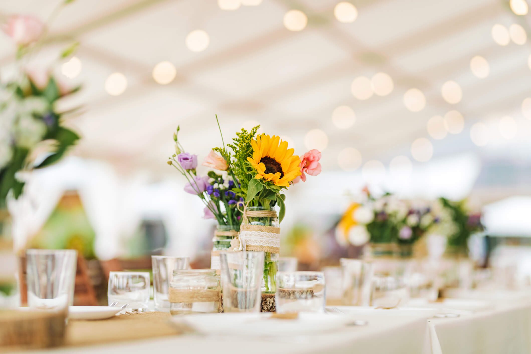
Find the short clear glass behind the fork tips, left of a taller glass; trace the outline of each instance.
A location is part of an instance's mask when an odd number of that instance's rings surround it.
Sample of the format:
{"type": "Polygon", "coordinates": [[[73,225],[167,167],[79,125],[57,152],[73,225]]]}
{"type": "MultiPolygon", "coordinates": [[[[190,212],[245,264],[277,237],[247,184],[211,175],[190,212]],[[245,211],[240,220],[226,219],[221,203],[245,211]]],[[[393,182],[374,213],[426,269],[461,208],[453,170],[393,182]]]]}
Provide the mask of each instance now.
{"type": "Polygon", "coordinates": [[[149,287],[148,272],[109,272],[108,303],[129,304],[127,310],[143,312],[148,309],[149,287]]]}

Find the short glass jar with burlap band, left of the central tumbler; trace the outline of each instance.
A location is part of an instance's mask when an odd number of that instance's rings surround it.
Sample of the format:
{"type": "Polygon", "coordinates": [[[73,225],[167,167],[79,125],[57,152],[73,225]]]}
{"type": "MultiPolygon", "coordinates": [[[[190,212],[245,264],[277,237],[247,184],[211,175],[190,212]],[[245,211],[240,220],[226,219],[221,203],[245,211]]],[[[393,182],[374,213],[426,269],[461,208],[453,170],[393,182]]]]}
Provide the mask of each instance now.
{"type": "Polygon", "coordinates": [[[169,288],[172,315],[218,313],[219,280],[214,269],[176,269],[169,288]]]}

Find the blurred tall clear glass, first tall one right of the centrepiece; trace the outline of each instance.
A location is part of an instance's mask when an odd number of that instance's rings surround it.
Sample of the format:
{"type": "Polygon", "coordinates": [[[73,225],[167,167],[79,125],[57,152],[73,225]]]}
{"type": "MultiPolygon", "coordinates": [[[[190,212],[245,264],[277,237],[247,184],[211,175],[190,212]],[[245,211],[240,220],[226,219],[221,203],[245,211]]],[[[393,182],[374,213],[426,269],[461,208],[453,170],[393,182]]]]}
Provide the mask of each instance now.
{"type": "Polygon", "coordinates": [[[341,299],[347,306],[369,306],[373,266],[371,262],[340,258],[341,299]]]}

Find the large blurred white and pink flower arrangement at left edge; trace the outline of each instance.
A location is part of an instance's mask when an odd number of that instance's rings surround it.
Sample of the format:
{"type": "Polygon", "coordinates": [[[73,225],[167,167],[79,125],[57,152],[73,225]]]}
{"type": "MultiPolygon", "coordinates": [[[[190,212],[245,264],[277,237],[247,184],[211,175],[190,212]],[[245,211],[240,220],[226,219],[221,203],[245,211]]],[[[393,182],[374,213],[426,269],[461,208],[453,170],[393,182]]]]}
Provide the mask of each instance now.
{"type": "MultiPolygon", "coordinates": [[[[71,2],[60,3],[54,16],[71,2]]],[[[47,27],[39,19],[7,16],[2,30],[16,46],[16,73],[12,80],[0,83],[0,241],[4,240],[0,252],[10,248],[10,242],[5,241],[11,236],[7,199],[16,199],[23,192],[20,172],[52,165],[79,140],[78,134],[63,125],[74,110],[59,111],[56,102],[80,89],[65,87],[51,72],[32,72],[24,67],[25,59],[41,48],[46,37],[47,27]]],[[[76,43],[66,48],[58,61],[71,56],[77,47],[76,43]]],[[[14,287],[1,279],[4,275],[0,274],[0,293],[8,295],[14,287]]]]}

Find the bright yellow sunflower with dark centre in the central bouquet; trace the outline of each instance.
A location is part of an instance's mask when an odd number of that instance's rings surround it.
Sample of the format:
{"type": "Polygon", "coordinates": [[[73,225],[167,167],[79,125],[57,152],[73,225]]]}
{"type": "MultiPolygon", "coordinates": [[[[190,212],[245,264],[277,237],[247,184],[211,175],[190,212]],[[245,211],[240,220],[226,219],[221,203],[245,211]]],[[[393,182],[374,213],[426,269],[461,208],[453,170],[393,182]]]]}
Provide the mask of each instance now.
{"type": "Polygon", "coordinates": [[[252,158],[247,161],[256,170],[254,178],[263,178],[277,186],[287,187],[289,182],[301,175],[298,156],[293,156],[294,149],[288,149],[288,142],[273,135],[258,135],[251,141],[252,158]]]}

